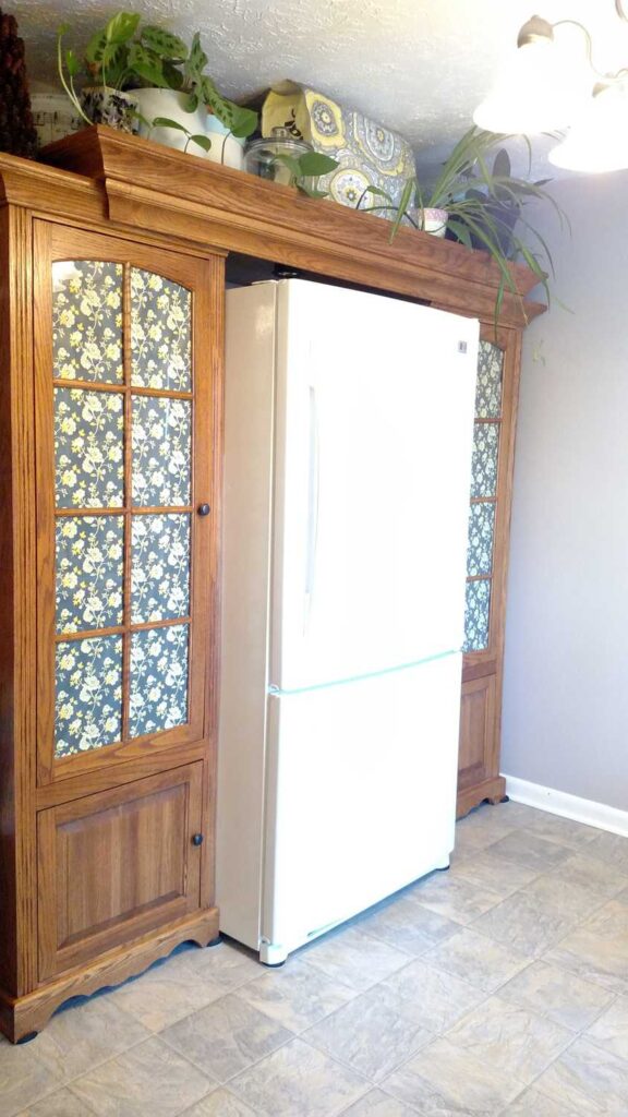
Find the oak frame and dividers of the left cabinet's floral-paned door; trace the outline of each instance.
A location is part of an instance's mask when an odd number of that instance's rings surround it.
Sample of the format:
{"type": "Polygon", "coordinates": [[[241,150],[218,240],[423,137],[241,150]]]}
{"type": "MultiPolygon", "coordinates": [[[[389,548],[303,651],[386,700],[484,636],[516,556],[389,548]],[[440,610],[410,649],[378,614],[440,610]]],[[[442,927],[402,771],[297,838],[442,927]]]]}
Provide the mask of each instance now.
{"type": "MultiPolygon", "coordinates": [[[[216,545],[212,516],[199,517],[197,507],[208,503],[216,505],[216,476],[219,474],[212,460],[216,431],[213,430],[215,401],[211,398],[210,354],[213,343],[211,335],[211,261],[190,258],[131,244],[101,232],[85,232],[51,222],[35,222],[35,392],[36,392],[36,487],[37,487],[37,746],[38,784],[63,780],[108,766],[120,761],[141,755],[144,751],[158,753],[177,744],[200,741],[207,736],[208,701],[207,670],[210,649],[208,636],[216,631],[215,602],[210,600],[210,577],[212,569],[211,547],[216,545]],[[192,470],[190,515],[190,645],[189,645],[189,720],[174,728],[145,734],[88,752],[55,758],[55,457],[54,457],[54,386],[61,384],[53,379],[53,280],[51,265],[57,260],[108,260],[125,265],[125,288],[129,267],[173,280],[188,288],[192,295],[192,470]]],[[[125,411],[130,410],[129,397],[168,397],[168,390],[151,390],[131,385],[130,379],[130,302],[125,293],[123,314],[124,337],[124,384],[115,391],[124,397],[125,411]]],[[[83,381],[64,380],[63,386],[85,386],[94,384],[83,381]]],[[[102,389],[101,389],[102,390],[102,389]]],[[[129,420],[125,436],[129,435],[129,420]]],[[[132,497],[130,493],[130,452],[125,451],[125,505],[122,515],[125,522],[125,553],[130,545],[132,519],[132,497]]],[[[164,506],[164,512],[166,512],[164,506]]],[[[117,514],[117,509],[112,509],[117,514]]],[[[88,514],[88,513],[87,513],[88,514]]],[[[125,562],[124,590],[126,601],[130,594],[130,563],[125,562]]],[[[126,604],[124,617],[126,641],[130,640],[130,615],[126,604]]],[[[152,627],[150,624],[146,628],[152,627]]],[[[158,626],[159,627],[159,626],[158,626]]],[[[134,626],[131,626],[134,630],[134,626]]],[[[104,630],[106,631],[106,630],[104,630]]],[[[124,660],[123,701],[130,686],[129,653],[124,660]]]]}

